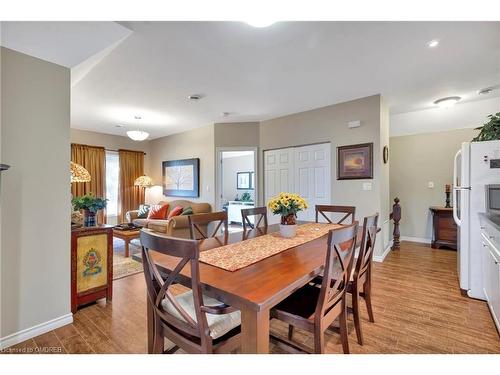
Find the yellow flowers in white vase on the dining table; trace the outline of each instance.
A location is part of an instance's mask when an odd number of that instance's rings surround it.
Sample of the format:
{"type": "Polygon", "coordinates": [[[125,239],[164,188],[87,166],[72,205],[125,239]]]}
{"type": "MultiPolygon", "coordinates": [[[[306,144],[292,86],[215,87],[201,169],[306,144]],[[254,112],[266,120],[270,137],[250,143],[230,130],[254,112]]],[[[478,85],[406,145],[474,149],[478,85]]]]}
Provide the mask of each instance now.
{"type": "Polygon", "coordinates": [[[297,212],[307,208],[307,202],[298,194],[280,193],[271,198],[267,206],[275,215],[281,215],[280,233],[283,237],[292,238],[297,233],[297,212]]]}

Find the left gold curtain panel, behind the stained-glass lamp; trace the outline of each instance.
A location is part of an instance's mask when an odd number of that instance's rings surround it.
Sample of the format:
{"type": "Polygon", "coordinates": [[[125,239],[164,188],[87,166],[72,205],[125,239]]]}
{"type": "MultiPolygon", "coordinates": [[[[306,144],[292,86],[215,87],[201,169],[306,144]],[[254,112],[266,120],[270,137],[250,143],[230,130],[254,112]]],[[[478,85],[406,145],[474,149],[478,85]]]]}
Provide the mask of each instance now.
{"type": "MultiPolygon", "coordinates": [[[[80,164],[90,173],[90,182],[71,184],[73,197],[92,193],[96,197],[106,198],[106,152],[104,147],[71,144],[71,161],[80,164]]],[[[105,210],[99,211],[97,223],[106,223],[105,210]]]]}

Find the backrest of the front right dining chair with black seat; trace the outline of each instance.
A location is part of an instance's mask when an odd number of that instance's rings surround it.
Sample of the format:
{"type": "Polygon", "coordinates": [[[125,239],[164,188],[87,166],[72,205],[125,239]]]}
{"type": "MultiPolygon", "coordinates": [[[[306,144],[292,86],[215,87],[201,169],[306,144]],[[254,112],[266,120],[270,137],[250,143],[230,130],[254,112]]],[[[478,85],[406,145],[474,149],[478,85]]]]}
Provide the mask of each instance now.
{"type": "Polygon", "coordinates": [[[347,291],[357,235],[358,222],[343,228],[332,229],[328,233],[325,269],[316,305],[316,319],[323,319],[341,302],[347,291]]]}

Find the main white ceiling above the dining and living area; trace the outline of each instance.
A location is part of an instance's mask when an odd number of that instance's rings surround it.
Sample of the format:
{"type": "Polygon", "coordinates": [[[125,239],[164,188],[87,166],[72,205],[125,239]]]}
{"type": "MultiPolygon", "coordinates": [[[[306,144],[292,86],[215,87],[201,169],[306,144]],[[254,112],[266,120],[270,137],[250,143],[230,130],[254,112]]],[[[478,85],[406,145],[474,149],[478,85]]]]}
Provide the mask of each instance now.
{"type": "MultiPolygon", "coordinates": [[[[477,90],[500,84],[499,22],[121,25],[132,34],[108,43],[115,45],[106,53],[101,48],[85,69],[73,69],[79,73],[72,88],[75,128],[125,135],[140,127],[156,138],[378,93],[394,115],[431,108],[444,96],[479,100],[477,90]],[[431,39],[440,45],[429,49],[431,39]],[[204,98],[192,102],[190,94],[204,98]]],[[[489,95],[495,96],[500,90],[489,95]]]]}

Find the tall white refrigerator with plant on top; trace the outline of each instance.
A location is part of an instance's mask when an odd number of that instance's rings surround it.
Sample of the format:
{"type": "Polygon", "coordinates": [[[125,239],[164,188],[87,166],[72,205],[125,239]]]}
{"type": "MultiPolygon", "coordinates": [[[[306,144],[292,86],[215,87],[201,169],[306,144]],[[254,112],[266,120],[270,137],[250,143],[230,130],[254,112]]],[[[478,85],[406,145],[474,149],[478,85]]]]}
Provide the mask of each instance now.
{"type": "Polygon", "coordinates": [[[500,141],[462,143],[455,155],[453,184],[460,288],[469,297],[484,300],[478,214],[486,211],[485,185],[500,184],[500,141]]]}

